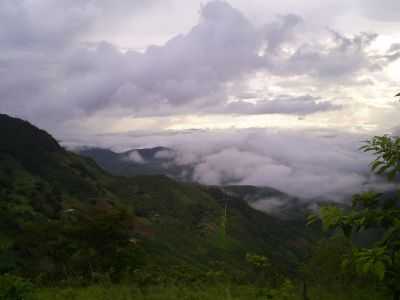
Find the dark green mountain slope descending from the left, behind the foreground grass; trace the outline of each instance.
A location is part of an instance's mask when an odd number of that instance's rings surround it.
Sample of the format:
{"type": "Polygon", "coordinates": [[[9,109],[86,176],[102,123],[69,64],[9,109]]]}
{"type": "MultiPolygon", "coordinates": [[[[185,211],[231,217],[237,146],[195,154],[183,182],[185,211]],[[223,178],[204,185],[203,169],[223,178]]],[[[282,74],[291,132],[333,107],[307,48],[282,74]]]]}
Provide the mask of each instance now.
{"type": "MultiPolygon", "coordinates": [[[[246,253],[289,272],[316,238],[303,221],[255,210],[237,191],[111,175],[26,121],[0,115],[0,136],[0,273],[53,282],[178,268],[241,278],[246,253]]],[[[140,153],[150,160],[159,151],[140,153]]]]}

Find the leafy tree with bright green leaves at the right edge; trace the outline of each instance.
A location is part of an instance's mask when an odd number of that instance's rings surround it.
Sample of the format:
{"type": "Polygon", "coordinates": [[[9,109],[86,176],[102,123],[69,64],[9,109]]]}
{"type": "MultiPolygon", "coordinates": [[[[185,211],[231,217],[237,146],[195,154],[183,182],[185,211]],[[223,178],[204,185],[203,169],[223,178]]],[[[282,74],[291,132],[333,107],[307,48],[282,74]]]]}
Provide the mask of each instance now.
{"type": "MultiPolygon", "coordinates": [[[[399,94],[400,95],[400,94],[399,94]]],[[[373,172],[395,181],[400,174],[400,137],[375,136],[361,147],[373,153],[373,172]]],[[[400,192],[381,194],[365,192],[353,196],[352,208],[344,211],[335,206],[323,207],[319,216],[311,216],[310,222],[321,219],[325,229],[341,229],[351,238],[357,232],[378,229],[381,237],[364,247],[354,247],[343,265],[352,263],[363,274],[372,274],[387,287],[394,300],[400,299],[400,192]]]]}

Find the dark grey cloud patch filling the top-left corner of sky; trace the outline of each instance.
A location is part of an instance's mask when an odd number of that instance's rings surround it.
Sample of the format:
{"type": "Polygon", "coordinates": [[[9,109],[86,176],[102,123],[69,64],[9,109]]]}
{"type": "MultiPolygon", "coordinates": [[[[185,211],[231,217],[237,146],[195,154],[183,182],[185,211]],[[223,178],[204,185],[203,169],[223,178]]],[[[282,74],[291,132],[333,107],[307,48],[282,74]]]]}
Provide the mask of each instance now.
{"type": "Polygon", "coordinates": [[[94,16],[88,1],[74,2],[1,1],[0,45],[12,50],[29,47],[31,51],[40,46],[65,45],[82,33],[94,16]]]}

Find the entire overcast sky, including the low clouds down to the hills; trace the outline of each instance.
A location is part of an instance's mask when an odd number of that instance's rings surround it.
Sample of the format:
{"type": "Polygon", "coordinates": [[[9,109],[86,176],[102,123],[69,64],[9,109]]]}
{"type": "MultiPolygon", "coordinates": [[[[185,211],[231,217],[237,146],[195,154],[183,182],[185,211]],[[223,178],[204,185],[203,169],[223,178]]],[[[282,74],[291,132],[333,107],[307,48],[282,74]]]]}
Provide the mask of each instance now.
{"type": "Polygon", "coordinates": [[[0,112],[67,145],[180,149],[203,183],[352,192],[370,180],[360,141],[400,125],[399,11],[398,0],[2,0],[0,112]]]}

